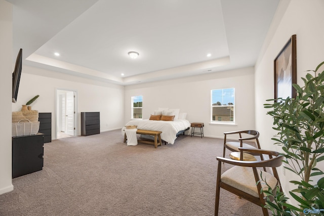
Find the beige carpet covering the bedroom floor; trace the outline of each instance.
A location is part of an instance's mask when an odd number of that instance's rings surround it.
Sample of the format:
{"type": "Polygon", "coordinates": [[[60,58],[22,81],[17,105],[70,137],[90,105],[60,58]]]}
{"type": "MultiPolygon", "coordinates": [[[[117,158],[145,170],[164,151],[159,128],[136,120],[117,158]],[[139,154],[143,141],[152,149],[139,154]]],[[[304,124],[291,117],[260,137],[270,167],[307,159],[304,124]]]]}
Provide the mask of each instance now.
{"type": "MultiPolygon", "coordinates": [[[[46,143],[43,170],[13,179],[0,215],[214,215],[222,142],[180,136],[157,149],[127,146],[117,130],[46,143]]],[[[221,189],[219,215],[262,211],[221,189]]]]}

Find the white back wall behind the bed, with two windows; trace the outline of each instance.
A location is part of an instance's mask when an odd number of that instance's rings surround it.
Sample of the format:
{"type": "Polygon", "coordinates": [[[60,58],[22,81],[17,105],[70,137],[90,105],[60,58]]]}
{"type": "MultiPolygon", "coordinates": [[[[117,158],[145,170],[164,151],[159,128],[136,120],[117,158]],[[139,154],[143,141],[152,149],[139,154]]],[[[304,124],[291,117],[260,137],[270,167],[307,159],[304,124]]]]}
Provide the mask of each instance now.
{"type": "Polygon", "coordinates": [[[190,122],[204,122],[206,137],[254,129],[254,68],[202,74],[125,87],[125,123],[131,120],[131,97],[143,96],[143,118],[159,107],[180,108],[190,122]],[[211,90],[235,88],[236,125],[210,124],[211,90]]]}

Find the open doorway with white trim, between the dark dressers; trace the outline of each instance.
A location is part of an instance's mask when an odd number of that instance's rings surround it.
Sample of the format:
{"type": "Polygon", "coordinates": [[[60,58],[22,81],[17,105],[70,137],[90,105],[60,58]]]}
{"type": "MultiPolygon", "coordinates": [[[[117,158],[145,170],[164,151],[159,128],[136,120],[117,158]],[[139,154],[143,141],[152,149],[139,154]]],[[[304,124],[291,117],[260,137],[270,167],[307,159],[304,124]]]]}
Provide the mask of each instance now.
{"type": "Polygon", "coordinates": [[[76,91],[56,90],[56,139],[76,136],[76,91]]]}

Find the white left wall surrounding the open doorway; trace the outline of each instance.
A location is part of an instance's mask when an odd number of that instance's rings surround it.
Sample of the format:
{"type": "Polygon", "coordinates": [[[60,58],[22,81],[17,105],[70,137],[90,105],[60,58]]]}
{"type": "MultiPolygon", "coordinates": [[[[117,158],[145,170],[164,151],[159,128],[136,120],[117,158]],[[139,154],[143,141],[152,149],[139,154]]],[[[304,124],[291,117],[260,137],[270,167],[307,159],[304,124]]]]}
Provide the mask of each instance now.
{"type": "Polygon", "coordinates": [[[17,103],[12,111],[21,110],[21,105],[39,95],[32,103],[38,112],[52,113],[52,139],[55,138],[56,89],[77,92],[77,134],[81,134],[80,112],[100,112],[100,131],[110,131],[124,125],[124,87],[82,77],[34,68],[23,65],[17,103]]]}

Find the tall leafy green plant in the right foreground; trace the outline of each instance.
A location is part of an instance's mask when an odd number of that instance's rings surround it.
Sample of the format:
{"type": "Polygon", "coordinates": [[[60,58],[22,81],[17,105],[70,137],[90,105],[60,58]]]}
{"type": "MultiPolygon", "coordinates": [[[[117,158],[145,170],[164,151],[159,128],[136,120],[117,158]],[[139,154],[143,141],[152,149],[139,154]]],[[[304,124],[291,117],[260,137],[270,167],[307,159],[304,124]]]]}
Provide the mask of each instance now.
{"type": "Polygon", "coordinates": [[[302,77],[304,87],[293,84],[296,98],[270,99],[272,104],[264,104],[270,108],[267,114],[273,117],[273,129],[277,134],[274,140],[282,148],[285,168],[294,172],[298,180],[291,181],[296,189],[289,191],[299,203],[293,206],[288,198],[278,189],[265,189],[269,196],[266,207],[273,215],[324,215],[324,177],[313,182],[311,177],[323,176],[324,172],[317,166],[324,161],[324,71],[318,72],[324,64],[320,63],[314,75],[307,73],[302,77]],[[275,201],[271,202],[270,199],[275,201]]]}

